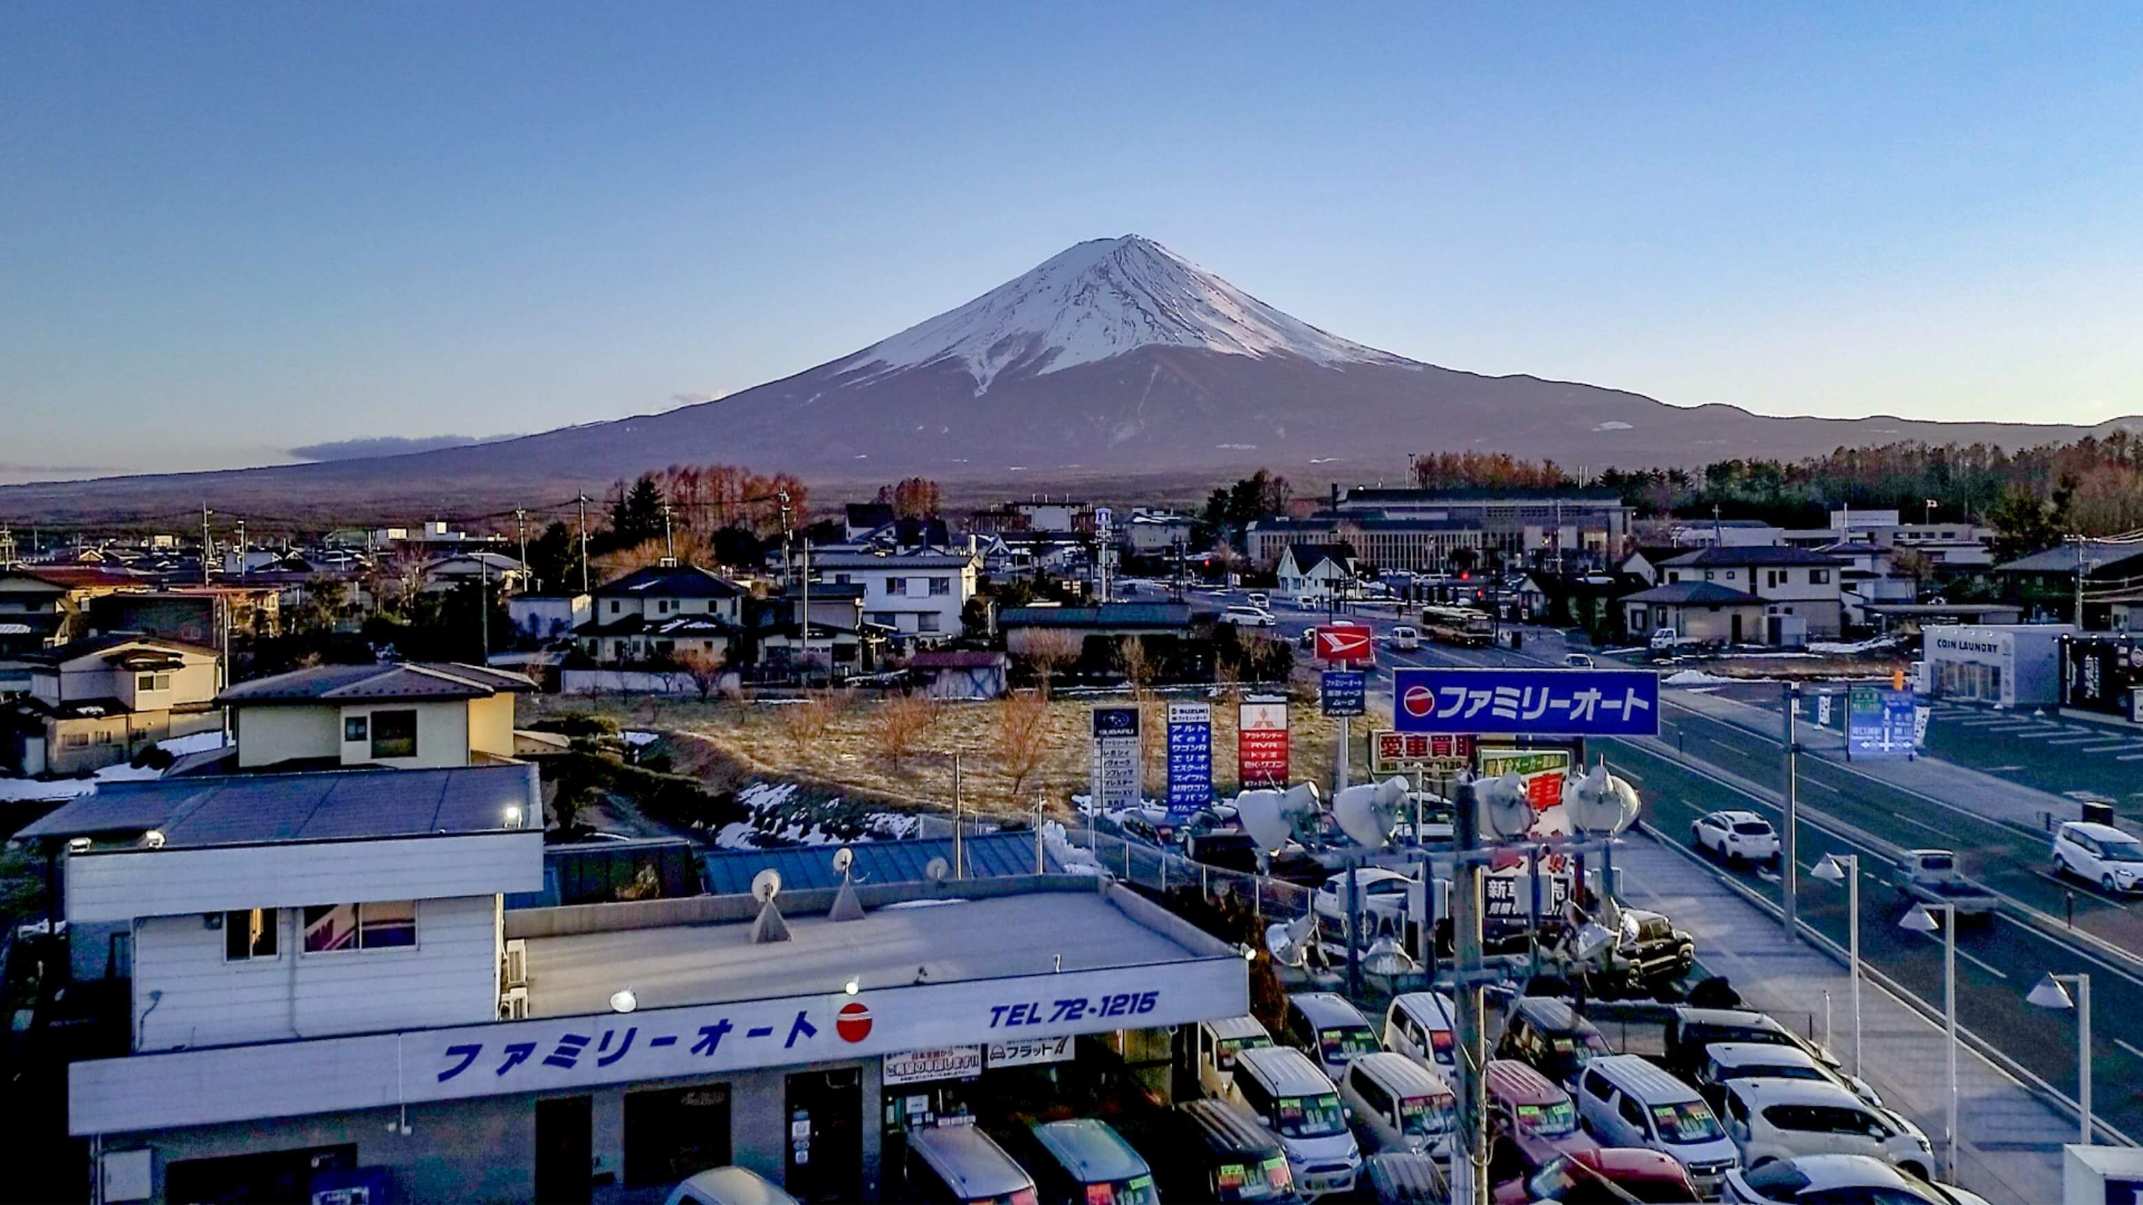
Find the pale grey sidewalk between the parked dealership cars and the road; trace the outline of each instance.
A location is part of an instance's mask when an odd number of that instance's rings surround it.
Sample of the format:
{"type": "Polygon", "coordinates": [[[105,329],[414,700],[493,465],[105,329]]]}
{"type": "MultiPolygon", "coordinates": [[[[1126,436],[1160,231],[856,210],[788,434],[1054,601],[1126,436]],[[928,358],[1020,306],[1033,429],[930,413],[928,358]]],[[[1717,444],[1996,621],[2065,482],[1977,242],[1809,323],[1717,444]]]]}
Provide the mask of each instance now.
{"type": "MultiPolygon", "coordinates": [[[[1642,834],[1616,849],[1629,903],[1663,911],[1697,939],[1704,969],[1727,976],[1742,997],[1789,1027],[1824,1016],[1830,993],[1830,1048],[1854,1066],[1852,984],[1845,967],[1809,943],[1789,943],[1779,920],[1734,892],[1708,866],[1642,834]]],[[[1944,1031],[1873,982],[1860,984],[1862,1076],[1892,1109],[1912,1117],[1942,1158],[1948,1061],[1944,1031]]],[[[2062,1145],[2077,1121],[2055,1111],[1965,1046],[1957,1057],[1957,1181],[1997,1205],[2047,1205],[2062,1199],[2062,1145]]]]}

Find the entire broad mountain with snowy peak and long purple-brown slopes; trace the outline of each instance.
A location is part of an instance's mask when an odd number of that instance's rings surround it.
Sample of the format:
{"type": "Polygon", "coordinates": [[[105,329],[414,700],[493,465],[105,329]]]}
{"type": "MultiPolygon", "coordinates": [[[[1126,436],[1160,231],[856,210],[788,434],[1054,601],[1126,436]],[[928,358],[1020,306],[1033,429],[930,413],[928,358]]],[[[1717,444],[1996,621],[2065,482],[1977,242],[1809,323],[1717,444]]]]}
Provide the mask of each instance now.
{"type": "MultiPolygon", "coordinates": [[[[2143,420],[2104,422],[2143,431],[2143,420]]],[[[1271,465],[1301,482],[1397,478],[1410,452],[1569,465],[1804,457],[1901,440],[2006,448],[2094,429],[1768,418],[1635,392],[1485,377],[1352,343],[1138,238],[1080,242],[855,354],[720,401],[420,455],[0,489],[0,515],[159,512],[289,500],[439,508],[570,495],[671,463],[814,482],[906,474],[990,489],[1196,482],[1271,465]]]]}

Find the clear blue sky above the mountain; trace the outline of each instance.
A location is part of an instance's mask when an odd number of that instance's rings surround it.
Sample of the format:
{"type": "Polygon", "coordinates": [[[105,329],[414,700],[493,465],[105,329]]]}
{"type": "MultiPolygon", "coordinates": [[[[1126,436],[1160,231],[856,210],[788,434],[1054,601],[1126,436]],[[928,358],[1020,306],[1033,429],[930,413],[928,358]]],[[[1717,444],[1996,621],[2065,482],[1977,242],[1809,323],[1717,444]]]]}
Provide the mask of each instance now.
{"type": "Polygon", "coordinates": [[[664,410],[1127,232],[1459,369],[2143,414],[2139,114],[2134,4],[13,4],[0,480],[664,410]]]}

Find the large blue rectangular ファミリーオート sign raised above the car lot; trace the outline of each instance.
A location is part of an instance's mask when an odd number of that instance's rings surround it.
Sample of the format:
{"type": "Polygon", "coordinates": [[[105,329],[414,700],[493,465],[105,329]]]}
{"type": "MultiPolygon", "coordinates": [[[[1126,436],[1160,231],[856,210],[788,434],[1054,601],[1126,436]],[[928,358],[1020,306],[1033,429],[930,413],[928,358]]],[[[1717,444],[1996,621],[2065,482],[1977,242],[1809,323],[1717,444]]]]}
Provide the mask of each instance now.
{"type": "Polygon", "coordinates": [[[1650,669],[1399,669],[1391,693],[1399,731],[1659,735],[1650,669]]]}

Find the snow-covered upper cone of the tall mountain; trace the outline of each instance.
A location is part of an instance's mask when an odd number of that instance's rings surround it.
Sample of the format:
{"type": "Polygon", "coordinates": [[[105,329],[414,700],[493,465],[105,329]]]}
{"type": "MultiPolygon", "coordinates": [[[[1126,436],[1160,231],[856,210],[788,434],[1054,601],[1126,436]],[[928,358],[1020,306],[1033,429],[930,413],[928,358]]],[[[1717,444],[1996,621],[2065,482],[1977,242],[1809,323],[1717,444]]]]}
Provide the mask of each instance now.
{"type": "Polygon", "coordinates": [[[1078,242],[960,309],[849,356],[842,367],[874,380],[956,360],[979,395],[1001,373],[1054,373],[1155,345],[1299,356],[1329,369],[1410,365],[1318,330],[1168,247],[1125,234],[1078,242]]]}

